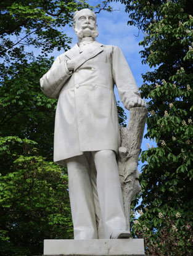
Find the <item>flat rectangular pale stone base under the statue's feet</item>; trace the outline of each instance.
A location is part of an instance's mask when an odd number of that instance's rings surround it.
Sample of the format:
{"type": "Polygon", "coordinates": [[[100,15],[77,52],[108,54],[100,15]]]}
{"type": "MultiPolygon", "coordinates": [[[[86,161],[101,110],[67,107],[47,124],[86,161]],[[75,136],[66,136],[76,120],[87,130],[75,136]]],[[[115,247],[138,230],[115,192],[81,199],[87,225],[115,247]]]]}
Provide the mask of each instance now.
{"type": "Polygon", "coordinates": [[[44,240],[44,255],[144,256],[144,239],[44,240]]]}

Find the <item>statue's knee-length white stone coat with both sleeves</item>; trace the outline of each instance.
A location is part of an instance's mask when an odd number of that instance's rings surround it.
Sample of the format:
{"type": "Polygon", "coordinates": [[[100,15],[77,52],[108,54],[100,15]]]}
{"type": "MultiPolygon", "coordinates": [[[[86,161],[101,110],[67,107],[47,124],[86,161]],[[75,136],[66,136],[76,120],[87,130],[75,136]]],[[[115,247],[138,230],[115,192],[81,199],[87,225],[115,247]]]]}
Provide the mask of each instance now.
{"type": "Polygon", "coordinates": [[[86,51],[78,44],[55,59],[40,80],[48,97],[57,98],[54,131],[54,162],[84,151],[118,151],[120,133],[114,85],[127,108],[132,97],[140,97],[123,53],[117,46],[94,41],[86,51]],[[74,72],[66,61],[80,56],[74,72]]]}

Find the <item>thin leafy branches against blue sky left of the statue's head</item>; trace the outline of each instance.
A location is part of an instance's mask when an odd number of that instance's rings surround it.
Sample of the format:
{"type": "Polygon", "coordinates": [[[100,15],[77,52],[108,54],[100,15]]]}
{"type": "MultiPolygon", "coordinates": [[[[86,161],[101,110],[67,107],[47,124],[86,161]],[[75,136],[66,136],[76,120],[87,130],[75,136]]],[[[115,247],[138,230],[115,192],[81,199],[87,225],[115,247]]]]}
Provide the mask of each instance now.
{"type": "Polygon", "coordinates": [[[41,48],[45,55],[68,49],[71,38],[62,30],[72,24],[73,12],[83,7],[88,7],[86,1],[1,1],[1,57],[8,61],[10,54],[19,56],[24,46],[41,48]]]}

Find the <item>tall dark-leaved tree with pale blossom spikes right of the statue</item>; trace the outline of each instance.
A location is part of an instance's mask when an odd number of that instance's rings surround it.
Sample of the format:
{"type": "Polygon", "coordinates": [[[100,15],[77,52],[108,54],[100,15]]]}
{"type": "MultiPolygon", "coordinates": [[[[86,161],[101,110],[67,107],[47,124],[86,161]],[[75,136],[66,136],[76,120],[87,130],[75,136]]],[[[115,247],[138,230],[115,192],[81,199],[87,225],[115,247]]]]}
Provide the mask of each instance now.
{"type": "Polygon", "coordinates": [[[138,209],[144,214],[141,228],[138,223],[133,231],[146,237],[147,255],[191,255],[193,2],[120,2],[129,13],[128,24],[145,33],[142,63],[154,67],[142,75],[141,94],[148,99],[146,138],[157,147],[141,155],[145,164],[138,209]]]}

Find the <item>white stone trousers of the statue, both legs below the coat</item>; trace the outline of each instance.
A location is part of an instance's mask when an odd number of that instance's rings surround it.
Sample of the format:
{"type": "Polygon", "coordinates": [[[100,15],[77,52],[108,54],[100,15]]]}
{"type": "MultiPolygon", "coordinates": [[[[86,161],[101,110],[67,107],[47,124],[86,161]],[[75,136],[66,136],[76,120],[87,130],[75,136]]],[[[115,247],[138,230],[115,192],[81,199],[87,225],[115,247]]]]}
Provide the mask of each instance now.
{"type": "MultiPolygon", "coordinates": [[[[105,238],[113,231],[126,230],[123,196],[115,152],[91,152],[97,171],[97,194],[104,223],[105,238]]],[[[66,160],[68,189],[75,239],[97,239],[96,212],[86,155],[66,160]]]]}

